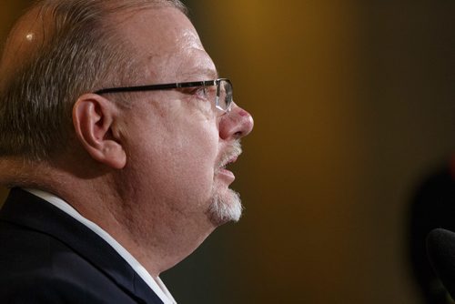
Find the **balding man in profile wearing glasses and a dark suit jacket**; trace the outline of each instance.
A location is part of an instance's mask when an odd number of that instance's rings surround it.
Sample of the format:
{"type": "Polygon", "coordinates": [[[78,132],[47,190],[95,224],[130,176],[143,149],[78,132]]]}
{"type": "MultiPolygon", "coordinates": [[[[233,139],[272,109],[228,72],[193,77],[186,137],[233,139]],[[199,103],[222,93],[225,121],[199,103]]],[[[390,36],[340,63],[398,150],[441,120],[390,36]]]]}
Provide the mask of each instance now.
{"type": "Polygon", "coordinates": [[[2,303],[173,303],[252,117],[177,0],[44,0],[0,64],[2,303]]]}

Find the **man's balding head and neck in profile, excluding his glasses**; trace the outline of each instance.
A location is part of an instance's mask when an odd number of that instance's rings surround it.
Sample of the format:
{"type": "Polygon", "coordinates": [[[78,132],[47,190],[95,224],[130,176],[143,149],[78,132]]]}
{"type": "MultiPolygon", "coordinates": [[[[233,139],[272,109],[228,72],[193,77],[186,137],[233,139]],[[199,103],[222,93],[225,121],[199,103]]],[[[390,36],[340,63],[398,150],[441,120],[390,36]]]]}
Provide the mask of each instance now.
{"type": "Polygon", "coordinates": [[[161,256],[238,220],[225,167],[253,120],[215,106],[219,85],[93,92],[217,79],[184,12],[177,1],[45,0],[15,26],[0,65],[0,157],[53,170],[10,183],[55,192],[102,227],[118,222],[161,256]]]}

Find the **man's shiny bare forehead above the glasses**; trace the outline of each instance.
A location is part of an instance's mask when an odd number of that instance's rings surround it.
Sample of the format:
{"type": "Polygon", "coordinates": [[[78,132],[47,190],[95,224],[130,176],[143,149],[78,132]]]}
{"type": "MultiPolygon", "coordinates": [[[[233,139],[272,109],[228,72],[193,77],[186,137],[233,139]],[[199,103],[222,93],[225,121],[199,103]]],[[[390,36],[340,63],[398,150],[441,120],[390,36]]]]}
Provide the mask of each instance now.
{"type": "Polygon", "coordinates": [[[177,82],[217,76],[195,27],[176,8],[136,12],[118,28],[136,50],[136,56],[140,56],[139,60],[147,65],[149,81],[177,82]]]}

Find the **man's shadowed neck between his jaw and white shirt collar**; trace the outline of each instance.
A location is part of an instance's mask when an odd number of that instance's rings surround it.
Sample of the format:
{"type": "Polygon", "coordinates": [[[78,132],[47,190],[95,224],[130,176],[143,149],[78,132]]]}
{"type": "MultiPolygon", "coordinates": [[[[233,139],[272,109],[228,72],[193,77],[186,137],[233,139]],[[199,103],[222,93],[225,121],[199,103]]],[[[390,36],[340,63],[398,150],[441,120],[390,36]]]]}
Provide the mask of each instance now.
{"type": "Polygon", "coordinates": [[[62,198],[106,230],[154,278],[186,258],[213,230],[208,220],[204,227],[182,223],[185,219],[169,215],[160,208],[163,204],[139,201],[124,190],[125,180],[117,172],[93,169],[94,164],[80,166],[77,162],[76,169],[67,164],[2,158],[0,184],[36,188],[62,198]]]}

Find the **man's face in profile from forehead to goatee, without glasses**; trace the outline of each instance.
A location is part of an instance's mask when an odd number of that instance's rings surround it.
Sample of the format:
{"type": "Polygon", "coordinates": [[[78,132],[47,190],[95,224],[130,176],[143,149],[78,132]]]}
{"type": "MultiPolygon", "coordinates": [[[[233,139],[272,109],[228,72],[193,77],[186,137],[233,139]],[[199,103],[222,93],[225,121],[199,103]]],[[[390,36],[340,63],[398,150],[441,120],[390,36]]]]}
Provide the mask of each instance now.
{"type": "MultiPolygon", "coordinates": [[[[212,80],[217,70],[187,17],[175,8],[145,10],[120,25],[144,58],[142,85],[212,80]]],[[[128,159],[125,183],[147,218],[165,218],[175,229],[215,227],[240,217],[234,175],[224,168],[240,153],[238,140],[252,117],[234,105],[219,112],[201,88],[134,94],[119,127],[128,159]]]]}

